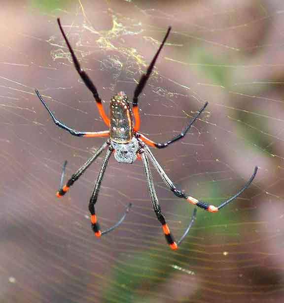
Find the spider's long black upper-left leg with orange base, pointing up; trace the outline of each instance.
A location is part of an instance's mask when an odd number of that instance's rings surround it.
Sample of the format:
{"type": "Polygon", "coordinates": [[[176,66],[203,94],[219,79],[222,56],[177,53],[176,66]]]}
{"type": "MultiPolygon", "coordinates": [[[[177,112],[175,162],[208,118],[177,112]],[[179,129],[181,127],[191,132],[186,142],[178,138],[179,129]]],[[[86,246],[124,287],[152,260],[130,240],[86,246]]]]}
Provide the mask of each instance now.
{"type": "Polygon", "coordinates": [[[59,28],[60,28],[60,31],[64,37],[64,40],[68,46],[68,49],[70,51],[70,54],[71,54],[71,57],[72,57],[72,61],[74,63],[74,66],[76,68],[76,71],[78,72],[79,76],[81,77],[81,79],[83,80],[83,82],[85,83],[86,87],[93,93],[93,96],[96,100],[96,103],[97,103],[97,107],[98,107],[98,110],[99,110],[99,113],[102,117],[102,119],[104,120],[104,122],[106,123],[107,126],[110,125],[110,121],[109,121],[109,118],[106,116],[106,113],[104,111],[104,108],[103,108],[103,105],[102,105],[102,99],[100,98],[99,94],[98,94],[98,91],[97,91],[97,88],[95,87],[95,85],[93,84],[92,80],[89,78],[89,76],[87,75],[87,73],[81,68],[80,66],[80,63],[78,61],[78,59],[76,58],[75,56],[75,53],[71,47],[71,44],[70,42],[68,41],[67,39],[67,36],[61,26],[61,23],[60,23],[60,19],[57,18],[57,22],[58,22],[58,25],[59,25],[59,28]]]}

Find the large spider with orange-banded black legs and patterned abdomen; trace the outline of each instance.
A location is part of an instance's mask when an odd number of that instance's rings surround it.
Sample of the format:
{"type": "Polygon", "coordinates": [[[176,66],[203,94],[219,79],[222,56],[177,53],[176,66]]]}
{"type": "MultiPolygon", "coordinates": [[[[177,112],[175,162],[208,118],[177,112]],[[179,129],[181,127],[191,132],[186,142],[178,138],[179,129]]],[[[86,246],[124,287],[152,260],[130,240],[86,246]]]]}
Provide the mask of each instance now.
{"type": "Polygon", "coordinates": [[[148,148],[148,145],[151,147],[155,147],[158,149],[163,149],[170,144],[178,141],[179,139],[183,138],[185,134],[188,132],[190,129],[191,125],[199,118],[201,113],[204,111],[206,106],[208,105],[208,102],[204,104],[204,106],[197,112],[197,114],[193,117],[191,121],[188,122],[188,124],[185,126],[185,128],[175,136],[174,138],[170,139],[169,141],[162,142],[162,143],[156,143],[150,139],[148,139],[146,136],[144,136],[142,133],[139,132],[139,127],[140,127],[140,117],[139,117],[139,109],[138,109],[138,97],[141,94],[147,80],[149,79],[149,76],[153,70],[153,67],[155,65],[155,62],[161,52],[161,49],[163,48],[169,33],[171,31],[171,27],[168,28],[167,33],[158,49],[156,52],[154,58],[152,59],[150,65],[147,68],[146,73],[144,73],[134,91],[134,96],[133,96],[133,102],[132,102],[132,109],[130,107],[129,100],[127,98],[127,95],[123,92],[120,91],[118,92],[115,96],[113,96],[110,100],[110,116],[109,118],[107,117],[103,106],[102,106],[102,100],[98,94],[98,91],[87,75],[87,73],[81,68],[79,61],[77,60],[73,49],[71,48],[70,42],[68,41],[68,38],[61,26],[60,19],[57,19],[59,28],[61,30],[61,33],[65,39],[65,42],[69,48],[69,51],[71,53],[72,61],[75,66],[76,71],[78,72],[79,76],[83,80],[84,84],[86,87],[93,93],[93,96],[96,100],[96,104],[100,113],[100,116],[102,117],[103,121],[106,123],[106,125],[109,127],[108,130],[104,131],[96,131],[96,132],[88,132],[88,131],[76,131],[69,126],[65,125],[61,121],[57,120],[45,101],[43,100],[42,96],[39,94],[39,92],[36,90],[36,94],[39,98],[39,100],[42,102],[44,107],[47,109],[48,113],[50,114],[51,118],[53,119],[54,123],[58,126],[61,127],[68,132],[71,133],[73,136],[78,136],[78,137],[107,137],[107,141],[98,149],[97,152],[95,152],[87,161],[84,163],[68,180],[66,185],[63,185],[63,177],[64,177],[64,172],[65,172],[65,167],[67,162],[64,164],[62,176],[61,176],[61,184],[60,184],[60,189],[57,192],[57,197],[61,197],[65,195],[65,193],[68,191],[68,189],[73,185],[75,181],[79,179],[79,177],[82,176],[82,174],[86,171],[86,169],[91,165],[92,162],[96,160],[96,158],[104,151],[106,150],[106,155],[103,160],[103,165],[101,167],[101,170],[99,172],[97,182],[95,184],[95,188],[93,190],[92,196],[90,198],[89,202],[89,211],[91,213],[91,226],[92,230],[94,231],[95,235],[97,237],[101,237],[102,235],[105,235],[106,233],[112,231],[116,227],[118,227],[122,221],[124,220],[126,214],[129,212],[131,208],[131,203],[128,204],[126,211],[124,212],[123,216],[121,219],[112,227],[108,228],[105,231],[100,230],[100,226],[97,220],[96,212],[95,212],[95,204],[98,199],[98,194],[99,194],[99,189],[101,186],[101,182],[106,170],[106,165],[108,162],[108,159],[112,153],[114,153],[114,158],[120,162],[120,163],[133,163],[136,159],[140,159],[143,162],[144,166],[144,171],[146,175],[146,180],[148,184],[148,189],[150,193],[150,198],[151,202],[153,205],[154,212],[157,216],[157,219],[162,225],[162,229],[166,238],[166,241],[170,245],[172,249],[177,249],[178,244],[185,238],[187,233],[189,232],[190,227],[193,224],[193,221],[196,217],[196,207],[199,207],[203,210],[206,210],[208,212],[218,212],[220,209],[222,209],[225,205],[229,204],[232,202],[234,199],[236,199],[246,188],[248,188],[249,184],[252,182],[254,179],[258,167],[256,166],[254,168],[254,172],[252,176],[250,177],[249,181],[244,185],[244,187],[239,190],[235,195],[231,196],[229,199],[226,201],[222,202],[219,206],[214,206],[210,205],[204,201],[197,200],[188,194],[184,193],[183,191],[179,190],[174,183],[170,180],[170,178],[167,176],[159,162],[156,160],[154,157],[153,153],[150,151],[148,148]],[[135,122],[134,122],[135,121],[135,122]],[[149,159],[153,163],[155,169],[158,171],[159,175],[163,179],[163,181],[166,183],[166,185],[169,187],[169,189],[179,198],[183,198],[189,203],[195,205],[196,207],[194,208],[192,217],[190,219],[190,223],[188,227],[186,228],[184,234],[182,237],[179,239],[178,242],[175,241],[173,235],[170,232],[170,229],[166,223],[165,216],[163,215],[161,211],[161,207],[158,202],[158,198],[155,192],[154,184],[153,184],[153,179],[152,175],[149,169],[149,159]]]}

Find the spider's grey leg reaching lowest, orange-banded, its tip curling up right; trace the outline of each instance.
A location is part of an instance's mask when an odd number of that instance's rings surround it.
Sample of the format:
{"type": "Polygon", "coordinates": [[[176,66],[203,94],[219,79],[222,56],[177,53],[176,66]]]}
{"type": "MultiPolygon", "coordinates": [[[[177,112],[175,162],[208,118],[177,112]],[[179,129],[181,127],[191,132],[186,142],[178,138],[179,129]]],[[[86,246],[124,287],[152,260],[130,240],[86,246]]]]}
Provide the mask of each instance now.
{"type": "Polygon", "coordinates": [[[170,245],[170,247],[172,249],[177,249],[178,248],[178,244],[185,238],[185,236],[188,234],[190,227],[193,224],[193,221],[195,219],[196,216],[196,209],[194,209],[190,223],[187,227],[187,229],[185,230],[184,234],[182,235],[182,237],[180,238],[180,240],[178,242],[175,242],[174,237],[172,236],[170,229],[168,227],[168,224],[166,222],[166,219],[164,217],[164,215],[161,212],[161,207],[159,205],[159,201],[156,195],[156,191],[155,191],[155,187],[153,184],[153,178],[149,169],[149,162],[148,162],[148,158],[145,152],[140,152],[141,153],[141,157],[142,157],[142,161],[143,161],[143,165],[144,165],[144,170],[145,170],[145,175],[146,175],[146,179],[147,179],[147,184],[148,184],[148,189],[149,189],[149,193],[150,193],[150,197],[151,197],[151,201],[152,201],[152,205],[153,205],[153,209],[154,212],[158,218],[158,220],[160,221],[160,223],[162,224],[162,228],[163,228],[163,232],[166,238],[166,241],[168,242],[168,244],[170,245]]]}

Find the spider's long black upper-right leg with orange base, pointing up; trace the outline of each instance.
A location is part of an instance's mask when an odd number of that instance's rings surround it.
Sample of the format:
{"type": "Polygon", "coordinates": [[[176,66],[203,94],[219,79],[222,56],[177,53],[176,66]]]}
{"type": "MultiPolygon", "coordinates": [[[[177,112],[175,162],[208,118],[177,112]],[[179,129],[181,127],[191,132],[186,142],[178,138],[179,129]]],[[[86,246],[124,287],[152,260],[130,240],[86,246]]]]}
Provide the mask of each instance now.
{"type": "Polygon", "coordinates": [[[171,27],[168,28],[168,31],[167,31],[167,33],[166,33],[166,35],[164,37],[163,42],[161,43],[161,45],[160,45],[157,53],[155,54],[154,58],[152,59],[150,65],[148,66],[146,73],[142,75],[142,77],[141,77],[141,79],[140,79],[140,81],[139,81],[139,83],[138,83],[138,85],[137,85],[137,87],[136,87],[136,89],[134,91],[133,103],[132,103],[132,105],[133,105],[133,114],[134,114],[134,118],[135,118],[134,131],[138,131],[138,129],[140,127],[140,116],[139,116],[139,109],[138,109],[138,97],[141,94],[141,92],[143,91],[143,88],[144,88],[145,84],[147,83],[147,81],[148,81],[148,79],[150,77],[150,74],[151,74],[151,72],[153,70],[155,62],[156,62],[156,60],[157,60],[157,58],[158,58],[158,56],[159,56],[159,54],[160,54],[160,52],[161,52],[161,50],[163,48],[163,46],[164,46],[164,44],[165,44],[168,36],[169,36],[170,31],[171,31],[171,27]]]}

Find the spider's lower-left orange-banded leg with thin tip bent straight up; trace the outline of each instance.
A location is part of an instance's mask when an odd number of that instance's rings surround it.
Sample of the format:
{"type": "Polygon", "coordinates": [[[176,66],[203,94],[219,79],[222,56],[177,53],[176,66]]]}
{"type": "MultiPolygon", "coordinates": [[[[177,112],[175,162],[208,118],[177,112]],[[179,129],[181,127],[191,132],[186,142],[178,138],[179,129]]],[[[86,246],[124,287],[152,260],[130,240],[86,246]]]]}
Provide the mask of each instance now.
{"type": "Polygon", "coordinates": [[[83,173],[86,171],[86,169],[97,159],[97,157],[101,154],[101,152],[104,151],[104,149],[106,149],[106,147],[108,146],[107,142],[105,142],[96,153],[94,153],[88,160],[86,163],[84,163],[82,166],[79,167],[79,169],[71,176],[71,178],[68,180],[68,182],[66,183],[66,185],[63,185],[63,178],[64,178],[64,174],[65,174],[65,168],[66,168],[66,164],[67,161],[64,162],[63,165],[63,170],[62,170],[62,175],[61,175],[61,182],[60,182],[60,189],[59,191],[56,193],[57,197],[62,197],[66,194],[66,192],[68,191],[68,189],[70,188],[70,186],[73,185],[73,183],[75,181],[77,181],[82,175],[83,173]]]}

